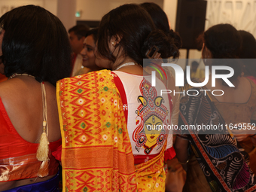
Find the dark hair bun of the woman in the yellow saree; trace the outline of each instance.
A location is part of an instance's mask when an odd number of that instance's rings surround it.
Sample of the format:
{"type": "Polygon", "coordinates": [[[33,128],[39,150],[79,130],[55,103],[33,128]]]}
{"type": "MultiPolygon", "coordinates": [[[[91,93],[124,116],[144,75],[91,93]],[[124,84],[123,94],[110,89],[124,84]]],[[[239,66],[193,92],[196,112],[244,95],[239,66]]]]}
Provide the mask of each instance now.
{"type": "Polygon", "coordinates": [[[148,38],[145,39],[142,47],[142,54],[145,58],[147,57],[147,51],[153,46],[156,46],[159,49],[158,53],[161,54],[161,58],[163,59],[169,57],[177,58],[179,56],[178,47],[175,44],[175,38],[172,38],[172,35],[166,35],[160,29],[152,31],[148,35],[148,38]]]}

